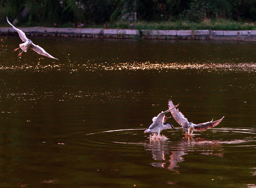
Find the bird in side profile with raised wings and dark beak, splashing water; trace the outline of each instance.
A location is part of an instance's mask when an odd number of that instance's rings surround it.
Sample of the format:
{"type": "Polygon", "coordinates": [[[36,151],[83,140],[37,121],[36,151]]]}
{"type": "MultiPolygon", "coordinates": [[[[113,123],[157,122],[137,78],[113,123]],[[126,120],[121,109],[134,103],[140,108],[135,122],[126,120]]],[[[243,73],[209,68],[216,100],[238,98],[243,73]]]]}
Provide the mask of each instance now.
{"type": "MultiPolygon", "coordinates": [[[[175,107],[177,107],[177,106],[179,106],[179,104],[176,105],[176,106],[174,106],[173,108],[175,108],[175,107]]],[[[173,108],[172,108],[172,109],[173,109],[173,108]]],[[[165,130],[165,129],[168,129],[168,128],[173,128],[173,129],[175,129],[175,128],[172,126],[171,123],[164,123],[164,121],[165,121],[166,119],[168,119],[168,117],[165,117],[165,114],[166,114],[167,112],[170,112],[172,109],[166,110],[165,112],[161,112],[161,113],[158,114],[157,117],[154,117],[154,118],[152,119],[153,123],[148,127],[147,130],[144,131],[144,133],[153,133],[153,134],[154,134],[154,138],[156,138],[156,136],[160,136],[160,132],[161,132],[162,130],[165,130]]]]}

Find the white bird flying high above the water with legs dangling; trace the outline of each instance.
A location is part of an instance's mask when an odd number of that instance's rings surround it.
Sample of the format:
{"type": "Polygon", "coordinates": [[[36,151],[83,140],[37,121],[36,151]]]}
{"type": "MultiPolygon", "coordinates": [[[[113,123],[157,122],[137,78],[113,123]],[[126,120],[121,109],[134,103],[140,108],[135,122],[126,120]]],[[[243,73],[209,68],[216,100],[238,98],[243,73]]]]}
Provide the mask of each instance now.
{"type": "MultiPolygon", "coordinates": [[[[7,19],[7,22],[8,22],[10,25],[12,25],[12,24],[9,22],[9,20],[8,20],[7,17],[6,17],[6,19],[7,19]]],[[[50,57],[50,58],[53,58],[53,59],[57,59],[57,58],[53,57],[52,55],[48,54],[47,52],[45,52],[45,50],[44,50],[43,48],[41,48],[40,46],[35,45],[31,40],[29,40],[29,39],[26,37],[26,35],[25,35],[25,33],[24,33],[23,31],[21,31],[20,29],[17,29],[17,28],[14,27],[13,25],[12,25],[12,28],[15,29],[15,30],[19,33],[20,39],[24,42],[24,43],[20,44],[20,47],[19,47],[19,48],[22,49],[22,52],[23,52],[23,51],[24,51],[24,52],[27,52],[28,47],[31,47],[32,50],[34,50],[34,51],[37,52],[38,54],[45,55],[45,56],[50,57]]],[[[14,49],[14,51],[18,50],[19,48],[14,49]]],[[[22,53],[22,52],[21,52],[21,53],[22,53]]],[[[18,56],[20,56],[21,53],[20,53],[18,56]]],[[[58,59],[57,59],[57,60],[58,60],[58,59]]]]}

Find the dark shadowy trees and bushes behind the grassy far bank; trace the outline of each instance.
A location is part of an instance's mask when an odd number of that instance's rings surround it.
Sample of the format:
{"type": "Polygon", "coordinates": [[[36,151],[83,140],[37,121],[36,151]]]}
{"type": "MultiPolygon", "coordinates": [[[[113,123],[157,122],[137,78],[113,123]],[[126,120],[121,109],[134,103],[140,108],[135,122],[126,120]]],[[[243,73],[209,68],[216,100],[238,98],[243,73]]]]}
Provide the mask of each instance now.
{"type": "Polygon", "coordinates": [[[256,20],[256,0],[1,0],[0,23],[15,18],[20,24],[59,25],[85,22],[102,24],[120,21],[136,11],[139,21],[200,22],[229,19],[256,20]],[[124,8],[125,7],[125,8],[124,8]]]}

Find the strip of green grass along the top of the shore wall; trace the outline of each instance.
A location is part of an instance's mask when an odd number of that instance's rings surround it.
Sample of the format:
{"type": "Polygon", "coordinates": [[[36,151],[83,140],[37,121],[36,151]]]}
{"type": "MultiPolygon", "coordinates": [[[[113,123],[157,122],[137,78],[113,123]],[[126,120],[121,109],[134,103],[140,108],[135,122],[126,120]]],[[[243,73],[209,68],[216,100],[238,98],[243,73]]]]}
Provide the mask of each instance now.
{"type": "MultiPolygon", "coordinates": [[[[108,23],[109,29],[130,29],[130,22],[114,22],[108,23]]],[[[137,21],[133,22],[134,29],[140,30],[223,30],[223,31],[237,31],[237,30],[256,30],[256,24],[253,22],[236,22],[232,20],[216,19],[210,20],[205,19],[198,23],[188,21],[160,21],[160,22],[146,22],[137,21]]],[[[1,27],[10,27],[8,23],[0,25],[1,27]]],[[[17,27],[54,27],[49,24],[38,24],[33,23],[30,25],[18,24],[17,27]]],[[[58,25],[59,28],[73,27],[73,23],[67,23],[64,25],[58,25]]],[[[101,25],[96,24],[85,24],[83,28],[104,28],[104,23],[101,25]]]]}

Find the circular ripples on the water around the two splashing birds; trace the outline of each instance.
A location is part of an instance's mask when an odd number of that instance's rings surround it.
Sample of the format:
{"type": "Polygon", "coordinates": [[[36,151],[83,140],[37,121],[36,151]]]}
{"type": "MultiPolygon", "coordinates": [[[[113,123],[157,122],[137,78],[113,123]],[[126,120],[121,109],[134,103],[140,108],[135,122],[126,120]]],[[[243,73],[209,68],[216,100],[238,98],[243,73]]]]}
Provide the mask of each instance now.
{"type": "MultiPolygon", "coordinates": [[[[172,131],[171,129],[168,132],[165,132],[165,135],[168,139],[158,140],[164,141],[165,145],[168,147],[207,147],[206,145],[218,145],[221,144],[225,147],[246,147],[246,146],[255,146],[256,143],[256,130],[255,129],[246,129],[246,128],[212,128],[204,132],[206,134],[195,134],[195,137],[192,138],[183,138],[187,142],[180,142],[183,135],[181,134],[182,128],[178,128],[178,131],[172,131]],[[218,131],[217,131],[218,130],[218,131]],[[218,134],[216,136],[216,134],[218,134]],[[251,134],[251,135],[250,135],[251,134]],[[211,139],[209,139],[209,137],[211,139]],[[249,144],[251,143],[251,144],[249,144]],[[244,145],[246,144],[246,145],[244,145]]],[[[88,145],[108,145],[113,147],[125,147],[120,144],[125,145],[137,145],[144,146],[147,145],[148,141],[156,141],[148,139],[148,134],[144,134],[142,130],[145,129],[119,129],[119,130],[109,130],[101,131],[95,133],[86,134],[90,136],[87,139],[88,145]]],[[[200,132],[203,133],[203,132],[200,132]]],[[[167,148],[168,148],[167,147],[167,148]]],[[[191,148],[190,148],[191,149],[191,148]]]]}

